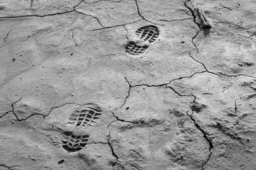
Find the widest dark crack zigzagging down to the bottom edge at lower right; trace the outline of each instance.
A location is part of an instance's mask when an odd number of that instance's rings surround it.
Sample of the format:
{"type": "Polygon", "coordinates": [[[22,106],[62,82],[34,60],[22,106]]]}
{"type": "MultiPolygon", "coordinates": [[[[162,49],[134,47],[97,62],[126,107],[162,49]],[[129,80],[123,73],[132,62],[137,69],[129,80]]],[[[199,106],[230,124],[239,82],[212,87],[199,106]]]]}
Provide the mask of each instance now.
{"type": "MultiPolygon", "coordinates": [[[[196,97],[195,97],[196,99],[196,97]]],[[[195,99],[193,102],[195,102],[195,99]]],[[[203,133],[203,138],[205,138],[205,140],[207,140],[208,144],[209,144],[209,155],[207,157],[207,160],[205,162],[202,163],[201,168],[202,170],[204,169],[205,165],[210,161],[211,157],[212,157],[212,148],[214,148],[214,144],[212,143],[212,140],[208,137],[209,134],[207,134],[207,132],[205,132],[205,130],[203,130],[201,128],[201,126],[199,126],[199,124],[195,121],[195,118],[193,118],[193,110],[194,107],[192,108],[192,114],[189,114],[189,112],[187,112],[187,116],[189,116],[189,118],[191,118],[191,121],[193,122],[193,124],[195,125],[195,127],[201,131],[201,133],[203,133]]]]}

